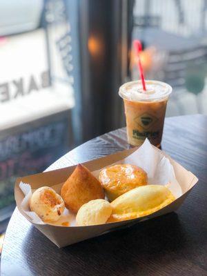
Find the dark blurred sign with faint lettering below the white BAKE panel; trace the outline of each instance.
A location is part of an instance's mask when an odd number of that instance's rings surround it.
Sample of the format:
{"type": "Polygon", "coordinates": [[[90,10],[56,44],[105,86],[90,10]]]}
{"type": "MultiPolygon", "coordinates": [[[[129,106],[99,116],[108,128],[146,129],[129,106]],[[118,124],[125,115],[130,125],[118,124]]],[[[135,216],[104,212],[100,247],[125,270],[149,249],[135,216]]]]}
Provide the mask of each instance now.
{"type": "Polygon", "coordinates": [[[69,120],[70,110],[1,132],[0,210],[14,202],[17,177],[42,172],[68,151],[69,120]]]}

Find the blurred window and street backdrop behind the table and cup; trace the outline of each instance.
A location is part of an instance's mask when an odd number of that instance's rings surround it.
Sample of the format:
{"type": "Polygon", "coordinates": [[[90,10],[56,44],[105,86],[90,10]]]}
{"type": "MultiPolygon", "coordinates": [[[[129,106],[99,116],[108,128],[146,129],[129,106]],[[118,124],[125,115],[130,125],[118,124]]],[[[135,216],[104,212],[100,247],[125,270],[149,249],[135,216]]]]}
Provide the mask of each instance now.
{"type": "Polygon", "coordinates": [[[0,1],[0,233],[17,177],[125,126],[134,39],[146,79],[173,88],[167,116],[207,114],[206,12],[206,0],[0,1]]]}

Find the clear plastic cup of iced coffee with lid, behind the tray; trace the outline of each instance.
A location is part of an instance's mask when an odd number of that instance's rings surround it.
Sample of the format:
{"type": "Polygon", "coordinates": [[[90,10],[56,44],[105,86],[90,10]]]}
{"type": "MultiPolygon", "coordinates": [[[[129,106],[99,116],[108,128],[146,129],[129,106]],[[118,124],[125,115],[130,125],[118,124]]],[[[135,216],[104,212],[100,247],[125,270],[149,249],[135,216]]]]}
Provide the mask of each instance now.
{"type": "Polygon", "coordinates": [[[171,86],[161,81],[146,81],[146,91],[141,81],[131,81],[120,87],[129,144],[140,146],[148,138],[151,144],[160,146],[166,105],[171,92],[171,86]]]}

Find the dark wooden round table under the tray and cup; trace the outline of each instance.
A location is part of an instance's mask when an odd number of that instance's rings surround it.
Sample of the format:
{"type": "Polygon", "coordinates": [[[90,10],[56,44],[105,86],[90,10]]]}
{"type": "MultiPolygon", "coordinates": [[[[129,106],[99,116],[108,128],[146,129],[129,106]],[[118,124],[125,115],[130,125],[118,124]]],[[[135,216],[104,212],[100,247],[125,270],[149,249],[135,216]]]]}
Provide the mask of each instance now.
{"type": "MultiPolygon", "coordinates": [[[[128,148],[125,129],[75,148],[49,170],[128,148]]],[[[177,213],[59,249],[18,210],[6,232],[1,276],[207,275],[207,117],[166,119],[162,149],[199,178],[177,213]]]]}

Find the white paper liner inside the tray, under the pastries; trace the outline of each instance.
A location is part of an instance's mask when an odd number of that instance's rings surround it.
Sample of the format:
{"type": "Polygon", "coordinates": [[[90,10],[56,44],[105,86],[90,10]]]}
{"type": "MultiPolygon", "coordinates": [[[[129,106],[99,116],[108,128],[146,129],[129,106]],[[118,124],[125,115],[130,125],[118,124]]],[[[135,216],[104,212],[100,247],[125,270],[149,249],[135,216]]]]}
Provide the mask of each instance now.
{"type": "MultiPolygon", "coordinates": [[[[148,139],[131,155],[115,162],[114,164],[131,164],[143,168],[148,174],[148,184],[167,185],[169,190],[175,195],[176,198],[182,195],[181,186],[175,179],[175,172],[173,166],[170,164],[170,160],[164,156],[163,152],[152,147],[148,139]]],[[[112,166],[112,164],[110,164],[112,166]]],[[[95,177],[99,177],[99,170],[92,172],[95,177]]],[[[52,186],[54,190],[59,193],[62,184],[52,186]]],[[[32,219],[33,223],[45,224],[36,213],[30,211],[30,197],[32,196],[32,189],[30,184],[21,182],[19,184],[23,194],[25,195],[21,202],[22,210],[32,219]]],[[[52,225],[62,226],[63,222],[69,221],[69,226],[75,226],[75,215],[65,208],[61,218],[55,222],[50,223],[52,225]]]]}

